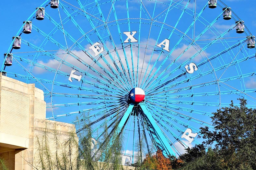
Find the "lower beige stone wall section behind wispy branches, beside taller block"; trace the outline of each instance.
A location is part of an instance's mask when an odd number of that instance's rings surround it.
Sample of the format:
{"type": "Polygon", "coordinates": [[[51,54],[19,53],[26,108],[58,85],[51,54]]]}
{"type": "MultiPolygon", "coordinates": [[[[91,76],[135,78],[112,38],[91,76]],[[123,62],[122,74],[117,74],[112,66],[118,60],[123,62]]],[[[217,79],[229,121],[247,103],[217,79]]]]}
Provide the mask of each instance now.
{"type": "MultiPolygon", "coordinates": [[[[42,164],[50,169],[60,164],[66,168],[76,167],[78,156],[78,137],[75,125],[51,120],[34,121],[34,161],[33,165],[41,170],[42,164]],[[66,161],[64,161],[66,159],[66,161]],[[59,162],[58,162],[59,161],[59,162]]],[[[56,168],[57,169],[57,168],[56,168]]]]}

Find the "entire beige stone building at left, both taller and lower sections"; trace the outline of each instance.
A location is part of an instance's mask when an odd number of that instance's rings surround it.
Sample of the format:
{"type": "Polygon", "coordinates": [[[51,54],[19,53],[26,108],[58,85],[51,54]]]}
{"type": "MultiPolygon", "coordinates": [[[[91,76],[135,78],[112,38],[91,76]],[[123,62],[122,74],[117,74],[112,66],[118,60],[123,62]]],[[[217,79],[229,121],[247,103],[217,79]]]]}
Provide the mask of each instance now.
{"type": "Polygon", "coordinates": [[[56,165],[56,156],[64,159],[65,154],[71,154],[68,164],[76,166],[75,126],[45,117],[42,90],[0,75],[0,158],[9,170],[41,169],[42,163],[51,166],[49,156],[56,165]]]}

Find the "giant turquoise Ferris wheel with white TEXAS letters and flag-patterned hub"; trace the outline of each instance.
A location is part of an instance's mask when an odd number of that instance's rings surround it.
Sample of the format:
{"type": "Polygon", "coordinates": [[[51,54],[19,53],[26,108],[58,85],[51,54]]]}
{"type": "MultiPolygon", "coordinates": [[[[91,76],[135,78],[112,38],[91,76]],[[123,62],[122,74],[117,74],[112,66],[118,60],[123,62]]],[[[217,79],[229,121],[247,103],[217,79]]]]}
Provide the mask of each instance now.
{"type": "Polygon", "coordinates": [[[95,144],[117,132],[123,161],[179,155],[231,100],[255,107],[255,37],[229,5],[47,0],[13,37],[1,72],[44,91],[47,119],[86,120],[95,144]]]}

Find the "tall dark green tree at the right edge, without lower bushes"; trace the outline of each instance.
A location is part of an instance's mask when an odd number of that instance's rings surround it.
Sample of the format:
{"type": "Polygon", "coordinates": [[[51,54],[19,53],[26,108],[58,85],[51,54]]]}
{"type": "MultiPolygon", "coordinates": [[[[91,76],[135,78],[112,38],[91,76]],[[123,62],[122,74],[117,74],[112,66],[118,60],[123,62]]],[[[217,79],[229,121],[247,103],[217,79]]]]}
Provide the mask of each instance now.
{"type": "Polygon", "coordinates": [[[248,108],[245,99],[240,106],[218,109],[213,113],[214,131],[201,128],[205,144],[219,149],[227,169],[256,169],[256,110],[248,108]]]}

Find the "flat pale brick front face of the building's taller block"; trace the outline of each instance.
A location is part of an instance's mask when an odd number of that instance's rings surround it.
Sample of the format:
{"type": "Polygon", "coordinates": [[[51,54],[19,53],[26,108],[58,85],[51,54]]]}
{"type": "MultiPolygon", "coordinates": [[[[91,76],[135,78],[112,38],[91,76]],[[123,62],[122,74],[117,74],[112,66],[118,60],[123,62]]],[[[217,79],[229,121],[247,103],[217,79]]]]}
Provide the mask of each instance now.
{"type": "Polygon", "coordinates": [[[25,89],[23,84],[15,85],[5,76],[0,78],[0,143],[26,147],[29,138],[29,95],[20,90],[25,89]],[[19,139],[20,144],[14,139],[19,139]]]}

